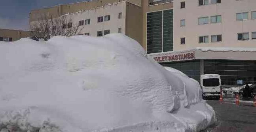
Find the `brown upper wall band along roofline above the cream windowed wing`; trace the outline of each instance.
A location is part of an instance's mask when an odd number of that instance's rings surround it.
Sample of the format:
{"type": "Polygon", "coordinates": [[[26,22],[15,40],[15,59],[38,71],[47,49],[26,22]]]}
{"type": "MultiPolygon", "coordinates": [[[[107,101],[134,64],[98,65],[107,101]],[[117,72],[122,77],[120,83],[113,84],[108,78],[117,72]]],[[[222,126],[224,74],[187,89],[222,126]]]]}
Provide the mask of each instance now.
{"type": "MultiPolygon", "coordinates": [[[[30,12],[30,22],[38,21],[42,15],[52,15],[53,17],[58,17],[66,13],[75,13],[78,11],[85,11],[88,9],[98,8],[106,6],[108,4],[118,3],[125,0],[91,0],[88,2],[77,2],[72,4],[63,4],[58,6],[53,6],[44,9],[35,9],[30,12]]],[[[140,0],[127,0],[133,4],[140,6],[140,0]]]]}

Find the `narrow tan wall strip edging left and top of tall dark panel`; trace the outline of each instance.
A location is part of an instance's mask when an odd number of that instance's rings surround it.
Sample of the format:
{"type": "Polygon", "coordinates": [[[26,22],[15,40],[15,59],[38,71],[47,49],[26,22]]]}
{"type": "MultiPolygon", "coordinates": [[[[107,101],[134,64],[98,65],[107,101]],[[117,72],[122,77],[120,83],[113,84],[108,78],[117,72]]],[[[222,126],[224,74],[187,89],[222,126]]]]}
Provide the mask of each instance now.
{"type": "Polygon", "coordinates": [[[173,2],[167,2],[163,4],[156,4],[149,6],[149,0],[142,0],[142,17],[143,17],[143,23],[142,23],[142,47],[146,50],[146,40],[147,40],[147,13],[148,12],[154,12],[154,11],[161,11],[165,9],[173,9],[173,2]]]}

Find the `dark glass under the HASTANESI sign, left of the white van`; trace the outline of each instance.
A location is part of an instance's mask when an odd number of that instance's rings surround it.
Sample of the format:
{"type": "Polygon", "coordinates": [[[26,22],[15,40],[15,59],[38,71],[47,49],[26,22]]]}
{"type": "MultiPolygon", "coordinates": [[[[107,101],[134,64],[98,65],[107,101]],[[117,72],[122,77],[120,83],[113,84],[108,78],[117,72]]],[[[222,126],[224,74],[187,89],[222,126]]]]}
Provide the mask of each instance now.
{"type": "Polygon", "coordinates": [[[200,60],[186,61],[186,62],[166,62],[161,63],[162,66],[172,67],[180,70],[188,77],[197,81],[200,80],[200,60]]]}

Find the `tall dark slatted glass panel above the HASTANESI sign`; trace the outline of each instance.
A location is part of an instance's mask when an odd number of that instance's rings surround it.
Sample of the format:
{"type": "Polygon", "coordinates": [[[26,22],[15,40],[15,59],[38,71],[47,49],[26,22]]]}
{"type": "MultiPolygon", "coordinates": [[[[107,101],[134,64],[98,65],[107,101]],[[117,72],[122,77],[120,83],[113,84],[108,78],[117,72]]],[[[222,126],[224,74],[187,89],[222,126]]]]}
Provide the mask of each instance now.
{"type": "Polygon", "coordinates": [[[173,9],[147,13],[147,53],[173,51],[173,9]]]}

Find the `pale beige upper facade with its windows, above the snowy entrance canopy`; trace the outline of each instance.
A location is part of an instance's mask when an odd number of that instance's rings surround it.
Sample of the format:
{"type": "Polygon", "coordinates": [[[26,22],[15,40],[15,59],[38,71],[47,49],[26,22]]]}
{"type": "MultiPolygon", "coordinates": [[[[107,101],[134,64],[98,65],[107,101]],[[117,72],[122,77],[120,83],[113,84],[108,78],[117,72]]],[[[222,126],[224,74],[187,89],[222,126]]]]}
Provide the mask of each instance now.
{"type": "Polygon", "coordinates": [[[175,51],[256,47],[256,0],[175,0],[174,10],[175,51]]]}

